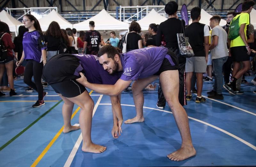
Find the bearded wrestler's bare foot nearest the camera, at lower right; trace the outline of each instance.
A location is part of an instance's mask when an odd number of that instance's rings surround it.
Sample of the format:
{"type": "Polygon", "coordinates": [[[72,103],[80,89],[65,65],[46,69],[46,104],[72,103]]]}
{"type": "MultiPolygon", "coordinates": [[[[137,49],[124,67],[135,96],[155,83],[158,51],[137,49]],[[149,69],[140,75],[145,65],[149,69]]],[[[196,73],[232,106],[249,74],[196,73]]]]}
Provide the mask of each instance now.
{"type": "Polygon", "coordinates": [[[194,155],[196,155],[194,147],[182,147],[172,154],[167,155],[167,157],[172,161],[182,161],[194,155]]]}

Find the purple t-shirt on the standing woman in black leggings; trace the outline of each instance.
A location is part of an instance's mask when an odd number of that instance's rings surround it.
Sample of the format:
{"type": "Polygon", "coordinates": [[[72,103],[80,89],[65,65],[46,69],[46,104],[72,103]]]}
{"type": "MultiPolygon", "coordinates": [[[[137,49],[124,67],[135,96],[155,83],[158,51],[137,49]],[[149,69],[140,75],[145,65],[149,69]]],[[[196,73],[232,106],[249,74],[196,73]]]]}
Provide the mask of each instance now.
{"type": "Polygon", "coordinates": [[[44,36],[41,36],[37,30],[25,32],[22,44],[25,60],[35,60],[38,63],[43,61],[41,50],[46,49],[46,45],[44,42],[44,36]]]}

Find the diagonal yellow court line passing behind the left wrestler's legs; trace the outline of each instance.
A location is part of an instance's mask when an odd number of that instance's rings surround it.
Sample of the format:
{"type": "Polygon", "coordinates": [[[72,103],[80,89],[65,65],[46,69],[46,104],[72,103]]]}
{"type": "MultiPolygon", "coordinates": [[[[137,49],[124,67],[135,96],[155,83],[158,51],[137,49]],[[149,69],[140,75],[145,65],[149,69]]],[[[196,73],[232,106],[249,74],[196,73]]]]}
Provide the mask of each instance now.
{"type": "MultiPolygon", "coordinates": [[[[89,95],[92,94],[93,91],[90,91],[89,95]]],[[[79,111],[80,107],[76,108],[76,111],[72,114],[71,119],[76,115],[76,113],[79,111]]],[[[47,151],[52,147],[53,143],[59,138],[60,134],[63,131],[64,126],[58,131],[58,133],[53,137],[53,139],[50,141],[50,143],[44,148],[42,153],[36,158],[35,162],[31,165],[31,167],[36,166],[41,159],[44,157],[44,155],[47,153],[47,151]]]]}

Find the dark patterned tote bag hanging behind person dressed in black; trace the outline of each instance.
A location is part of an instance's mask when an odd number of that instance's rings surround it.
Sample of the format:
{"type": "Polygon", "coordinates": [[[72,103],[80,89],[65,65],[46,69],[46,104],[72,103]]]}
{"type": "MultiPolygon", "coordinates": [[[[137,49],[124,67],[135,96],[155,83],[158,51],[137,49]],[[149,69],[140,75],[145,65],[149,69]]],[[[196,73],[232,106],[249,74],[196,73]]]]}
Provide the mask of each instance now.
{"type": "Polygon", "coordinates": [[[182,20],[180,20],[181,22],[181,30],[180,33],[177,33],[177,40],[178,40],[178,46],[179,46],[179,50],[180,50],[180,56],[181,57],[185,57],[185,58],[190,58],[195,56],[192,47],[189,44],[189,39],[188,37],[185,37],[185,30],[182,24],[182,20]],[[182,29],[183,32],[182,33],[182,29]]]}

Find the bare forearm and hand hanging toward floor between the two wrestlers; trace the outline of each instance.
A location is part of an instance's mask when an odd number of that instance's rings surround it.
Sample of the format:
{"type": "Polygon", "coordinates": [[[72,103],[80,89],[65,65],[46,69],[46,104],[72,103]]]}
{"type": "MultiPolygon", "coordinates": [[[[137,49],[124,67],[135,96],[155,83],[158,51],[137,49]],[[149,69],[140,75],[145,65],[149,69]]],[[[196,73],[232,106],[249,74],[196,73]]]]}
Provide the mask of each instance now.
{"type": "Polygon", "coordinates": [[[121,94],[118,96],[110,96],[111,104],[112,104],[112,113],[113,113],[113,128],[112,128],[112,136],[113,138],[118,138],[118,135],[121,135],[122,132],[122,123],[123,123],[123,115],[121,108],[121,94]]]}

